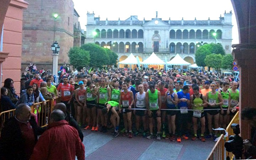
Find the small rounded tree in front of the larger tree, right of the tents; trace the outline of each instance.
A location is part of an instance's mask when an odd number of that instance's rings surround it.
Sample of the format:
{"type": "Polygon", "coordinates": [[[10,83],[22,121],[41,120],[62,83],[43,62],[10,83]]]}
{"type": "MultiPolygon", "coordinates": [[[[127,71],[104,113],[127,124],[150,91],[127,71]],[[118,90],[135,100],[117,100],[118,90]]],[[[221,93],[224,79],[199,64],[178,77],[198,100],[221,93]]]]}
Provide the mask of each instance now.
{"type": "Polygon", "coordinates": [[[219,70],[221,68],[222,55],[221,54],[209,54],[206,56],[204,63],[209,68],[212,67],[212,68],[215,68],[216,70],[219,70]]]}

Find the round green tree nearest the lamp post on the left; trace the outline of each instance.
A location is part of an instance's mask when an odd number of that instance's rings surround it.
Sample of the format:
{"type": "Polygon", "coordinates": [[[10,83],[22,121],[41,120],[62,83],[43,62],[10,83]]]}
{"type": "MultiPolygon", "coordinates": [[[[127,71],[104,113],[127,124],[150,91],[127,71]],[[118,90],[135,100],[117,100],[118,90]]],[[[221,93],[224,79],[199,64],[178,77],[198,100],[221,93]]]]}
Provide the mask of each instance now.
{"type": "Polygon", "coordinates": [[[78,70],[82,69],[84,66],[89,65],[90,54],[88,51],[80,49],[79,47],[73,47],[68,53],[69,62],[78,70]]]}

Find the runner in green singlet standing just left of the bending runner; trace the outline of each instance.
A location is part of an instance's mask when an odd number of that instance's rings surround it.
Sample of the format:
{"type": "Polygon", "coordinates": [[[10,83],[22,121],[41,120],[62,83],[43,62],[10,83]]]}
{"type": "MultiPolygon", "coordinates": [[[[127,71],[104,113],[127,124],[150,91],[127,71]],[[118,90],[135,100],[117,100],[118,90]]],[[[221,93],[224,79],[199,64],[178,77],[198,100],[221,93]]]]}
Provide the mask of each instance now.
{"type": "Polygon", "coordinates": [[[99,122],[101,121],[102,127],[101,132],[107,132],[107,116],[103,116],[102,109],[105,107],[105,103],[110,101],[111,98],[111,90],[110,87],[107,86],[107,80],[105,78],[101,79],[101,86],[97,92],[97,126],[99,127],[99,122]]]}

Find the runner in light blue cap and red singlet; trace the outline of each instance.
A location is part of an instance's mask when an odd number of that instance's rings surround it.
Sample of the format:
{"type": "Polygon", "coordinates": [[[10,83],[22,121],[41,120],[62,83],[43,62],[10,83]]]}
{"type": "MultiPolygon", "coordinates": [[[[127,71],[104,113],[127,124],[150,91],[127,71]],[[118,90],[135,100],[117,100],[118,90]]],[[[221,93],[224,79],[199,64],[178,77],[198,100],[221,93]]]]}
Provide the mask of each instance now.
{"type": "MultiPolygon", "coordinates": [[[[78,124],[80,124],[79,126],[81,127],[81,122],[80,122],[80,118],[82,118],[82,122],[85,122],[85,93],[86,93],[86,88],[84,87],[84,82],[83,81],[79,81],[78,82],[79,88],[75,90],[75,100],[78,103],[77,105],[77,114],[76,114],[76,122],[78,122],[78,124]],[[81,116],[84,115],[84,116],[81,116]]],[[[85,112],[86,113],[86,112],[85,112]]],[[[89,122],[89,119],[88,119],[89,122]]],[[[90,124],[90,123],[88,123],[90,124]]],[[[88,125],[89,127],[89,125],[88,125]]],[[[87,128],[87,127],[86,127],[87,128]]]]}

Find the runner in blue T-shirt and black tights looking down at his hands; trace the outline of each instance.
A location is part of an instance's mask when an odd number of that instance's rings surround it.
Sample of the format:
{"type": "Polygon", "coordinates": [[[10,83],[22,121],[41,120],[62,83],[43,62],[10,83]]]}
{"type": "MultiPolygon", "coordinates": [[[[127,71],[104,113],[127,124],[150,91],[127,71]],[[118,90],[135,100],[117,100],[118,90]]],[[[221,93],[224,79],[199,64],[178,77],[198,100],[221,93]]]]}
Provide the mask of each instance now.
{"type": "Polygon", "coordinates": [[[180,111],[177,112],[177,126],[178,126],[178,138],[177,142],[181,142],[182,138],[188,140],[186,136],[186,129],[188,123],[188,105],[190,105],[190,95],[189,95],[190,88],[185,85],[183,86],[183,90],[177,92],[178,95],[178,109],[180,111]]]}

